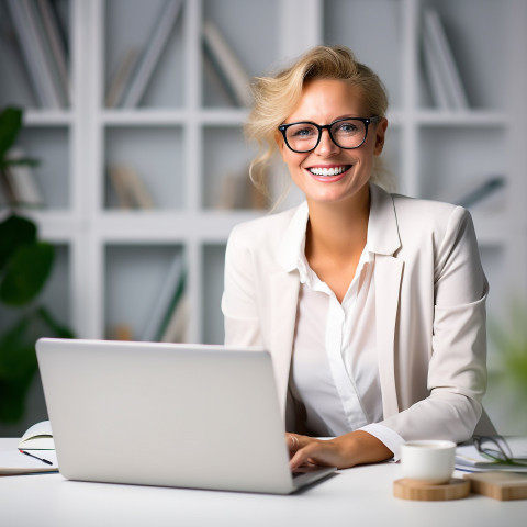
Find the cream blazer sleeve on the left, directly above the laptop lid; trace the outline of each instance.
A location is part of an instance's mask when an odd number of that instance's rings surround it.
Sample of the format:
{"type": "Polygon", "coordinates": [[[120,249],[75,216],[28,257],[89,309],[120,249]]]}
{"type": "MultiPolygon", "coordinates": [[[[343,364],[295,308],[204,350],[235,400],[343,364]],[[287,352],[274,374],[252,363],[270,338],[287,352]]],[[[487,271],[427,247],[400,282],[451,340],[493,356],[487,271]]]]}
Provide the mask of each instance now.
{"type": "Polygon", "coordinates": [[[225,253],[225,284],[222,312],[225,324],[225,344],[262,346],[260,317],[256,301],[257,277],[251,251],[243,243],[243,225],[235,227],[225,253]]]}

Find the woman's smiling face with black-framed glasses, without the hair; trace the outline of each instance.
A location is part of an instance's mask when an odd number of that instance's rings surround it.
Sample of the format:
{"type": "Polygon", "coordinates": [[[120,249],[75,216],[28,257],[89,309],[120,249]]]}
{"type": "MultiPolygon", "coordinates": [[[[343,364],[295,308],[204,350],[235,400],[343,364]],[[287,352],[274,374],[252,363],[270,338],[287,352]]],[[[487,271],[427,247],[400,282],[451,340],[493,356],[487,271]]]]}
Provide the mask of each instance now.
{"type": "MultiPolygon", "coordinates": [[[[385,117],[369,113],[362,89],[354,81],[314,79],[305,83],[287,124],[278,127],[282,159],[311,209],[318,200],[338,203],[368,193],[365,186],[374,157],[382,152],[388,125],[385,117]]],[[[362,247],[358,249],[360,255],[362,247]]]]}

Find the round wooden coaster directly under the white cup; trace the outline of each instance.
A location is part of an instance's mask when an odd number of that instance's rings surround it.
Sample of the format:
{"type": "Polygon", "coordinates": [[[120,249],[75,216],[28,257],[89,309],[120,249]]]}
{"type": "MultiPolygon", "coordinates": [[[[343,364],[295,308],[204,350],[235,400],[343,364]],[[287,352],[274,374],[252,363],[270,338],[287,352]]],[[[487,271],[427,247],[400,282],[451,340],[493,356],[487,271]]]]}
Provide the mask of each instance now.
{"type": "Polygon", "coordinates": [[[441,502],[445,500],[459,500],[467,497],[470,492],[470,483],[467,480],[452,478],[441,485],[429,485],[422,481],[395,480],[393,482],[393,495],[401,500],[415,500],[418,502],[441,502]]]}

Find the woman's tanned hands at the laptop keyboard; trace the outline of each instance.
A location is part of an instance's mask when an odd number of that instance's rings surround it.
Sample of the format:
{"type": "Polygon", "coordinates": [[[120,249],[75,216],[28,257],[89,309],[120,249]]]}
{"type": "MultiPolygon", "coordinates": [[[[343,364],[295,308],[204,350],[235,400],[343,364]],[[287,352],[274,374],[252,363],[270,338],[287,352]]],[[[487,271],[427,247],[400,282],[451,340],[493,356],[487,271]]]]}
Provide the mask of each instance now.
{"type": "Polygon", "coordinates": [[[302,464],[323,464],[347,469],[356,464],[375,463],[393,456],[377,437],[357,430],[335,439],[315,439],[287,434],[291,470],[302,464]]]}

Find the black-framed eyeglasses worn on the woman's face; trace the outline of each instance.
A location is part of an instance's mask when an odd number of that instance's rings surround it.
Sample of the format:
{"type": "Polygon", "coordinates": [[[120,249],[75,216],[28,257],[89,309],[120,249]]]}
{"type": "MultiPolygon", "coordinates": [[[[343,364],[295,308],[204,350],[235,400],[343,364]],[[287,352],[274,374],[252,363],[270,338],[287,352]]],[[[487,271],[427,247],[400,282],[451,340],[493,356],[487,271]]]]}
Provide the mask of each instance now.
{"type": "Polygon", "coordinates": [[[282,133],[289,149],[298,154],[314,150],[321,142],[324,130],[327,130],[329,137],[339,148],[351,150],[365,143],[368,136],[368,126],[379,120],[379,116],[344,117],[325,125],[301,121],[300,123],[281,124],[278,130],[282,133]]]}

